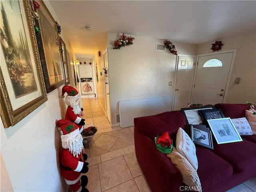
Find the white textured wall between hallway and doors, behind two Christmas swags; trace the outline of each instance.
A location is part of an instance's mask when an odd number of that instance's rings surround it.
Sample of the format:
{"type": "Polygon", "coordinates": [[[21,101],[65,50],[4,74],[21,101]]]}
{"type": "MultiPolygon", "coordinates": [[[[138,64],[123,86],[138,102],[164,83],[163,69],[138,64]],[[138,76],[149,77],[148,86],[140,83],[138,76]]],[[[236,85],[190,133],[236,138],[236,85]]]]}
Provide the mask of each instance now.
{"type": "MultiPolygon", "coordinates": [[[[170,96],[172,101],[175,80],[176,56],[169,50],[156,51],[156,43],[164,44],[164,40],[134,36],[132,45],[113,49],[114,40],[119,38],[120,34],[108,33],[112,124],[116,123],[121,100],[170,96]],[[168,86],[169,81],[172,86],[168,86]]],[[[180,54],[196,54],[196,45],[173,43],[180,54]]]]}

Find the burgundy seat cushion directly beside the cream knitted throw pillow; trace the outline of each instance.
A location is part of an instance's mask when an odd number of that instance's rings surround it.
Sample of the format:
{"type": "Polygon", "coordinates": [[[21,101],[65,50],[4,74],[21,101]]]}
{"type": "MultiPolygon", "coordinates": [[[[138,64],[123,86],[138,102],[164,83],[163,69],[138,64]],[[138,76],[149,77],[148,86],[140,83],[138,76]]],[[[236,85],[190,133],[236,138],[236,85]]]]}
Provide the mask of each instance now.
{"type": "Polygon", "coordinates": [[[197,172],[203,191],[225,180],[233,173],[232,166],[211,150],[196,146],[196,156],[198,159],[197,172]]]}

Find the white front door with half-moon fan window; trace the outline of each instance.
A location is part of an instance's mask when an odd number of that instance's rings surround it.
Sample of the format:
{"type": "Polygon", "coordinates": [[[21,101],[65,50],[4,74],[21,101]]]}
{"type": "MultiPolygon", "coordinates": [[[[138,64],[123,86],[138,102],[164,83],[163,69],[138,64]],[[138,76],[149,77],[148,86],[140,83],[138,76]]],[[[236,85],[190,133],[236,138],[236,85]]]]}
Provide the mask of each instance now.
{"type": "Polygon", "coordinates": [[[198,57],[192,104],[223,103],[234,55],[226,52],[198,57]]]}

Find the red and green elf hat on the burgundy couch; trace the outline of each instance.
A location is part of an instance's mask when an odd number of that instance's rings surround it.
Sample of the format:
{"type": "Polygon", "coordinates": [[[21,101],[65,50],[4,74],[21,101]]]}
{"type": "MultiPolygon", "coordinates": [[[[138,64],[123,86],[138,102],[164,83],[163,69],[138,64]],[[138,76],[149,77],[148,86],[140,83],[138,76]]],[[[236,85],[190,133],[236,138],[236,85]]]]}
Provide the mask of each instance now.
{"type": "Polygon", "coordinates": [[[161,136],[155,137],[156,148],[158,151],[164,154],[168,154],[172,151],[172,140],[168,132],[163,133],[161,136]]]}

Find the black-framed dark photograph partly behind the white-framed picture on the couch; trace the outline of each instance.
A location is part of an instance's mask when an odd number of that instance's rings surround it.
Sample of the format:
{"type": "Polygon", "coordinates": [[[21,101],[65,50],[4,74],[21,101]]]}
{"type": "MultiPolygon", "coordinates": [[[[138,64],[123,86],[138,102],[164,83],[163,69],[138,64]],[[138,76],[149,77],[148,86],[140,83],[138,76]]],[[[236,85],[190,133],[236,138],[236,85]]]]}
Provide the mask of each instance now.
{"type": "Polygon", "coordinates": [[[225,117],[220,109],[198,110],[198,113],[203,124],[206,126],[208,126],[207,119],[218,119],[225,117]]]}

